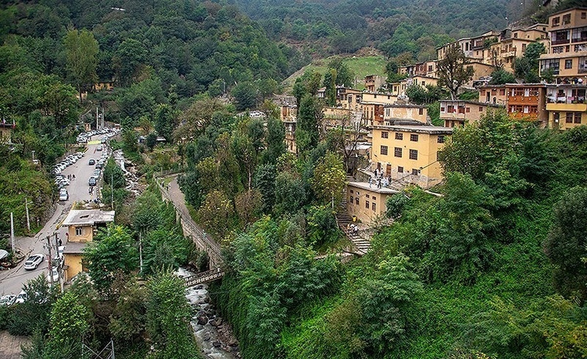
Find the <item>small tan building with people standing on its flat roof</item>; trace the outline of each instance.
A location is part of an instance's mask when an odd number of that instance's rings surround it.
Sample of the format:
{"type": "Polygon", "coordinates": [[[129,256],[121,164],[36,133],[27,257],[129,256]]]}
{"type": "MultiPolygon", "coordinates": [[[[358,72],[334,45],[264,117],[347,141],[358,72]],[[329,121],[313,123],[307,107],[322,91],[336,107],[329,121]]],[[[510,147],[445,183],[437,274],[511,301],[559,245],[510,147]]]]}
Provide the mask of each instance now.
{"type": "Polygon", "coordinates": [[[346,191],[349,215],[365,223],[385,215],[387,197],[398,192],[385,187],[377,188],[376,185],[369,187],[366,182],[348,182],[346,191]]]}

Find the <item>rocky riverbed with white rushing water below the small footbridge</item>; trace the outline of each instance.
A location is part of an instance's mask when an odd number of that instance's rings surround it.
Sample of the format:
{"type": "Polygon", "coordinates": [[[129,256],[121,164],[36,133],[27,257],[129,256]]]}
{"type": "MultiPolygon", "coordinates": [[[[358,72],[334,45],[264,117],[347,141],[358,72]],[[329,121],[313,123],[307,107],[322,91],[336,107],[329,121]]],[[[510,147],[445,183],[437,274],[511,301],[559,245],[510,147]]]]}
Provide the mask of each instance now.
{"type": "Polygon", "coordinates": [[[207,285],[188,288],[185,297],[194,309],[191,326],[200,351],[206,359],[241,358],[238,341],[232,334],[230,324],[218,316],[208,296],[207,285]]]}

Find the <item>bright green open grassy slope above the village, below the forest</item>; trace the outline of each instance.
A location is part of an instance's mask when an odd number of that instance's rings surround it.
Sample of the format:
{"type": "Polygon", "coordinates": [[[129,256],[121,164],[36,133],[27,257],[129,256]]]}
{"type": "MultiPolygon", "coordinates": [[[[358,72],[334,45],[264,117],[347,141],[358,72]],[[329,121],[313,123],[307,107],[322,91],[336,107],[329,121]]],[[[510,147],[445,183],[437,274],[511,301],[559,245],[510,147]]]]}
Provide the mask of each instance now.
{"type": "Polygon", "coordinates": [[[349,67],[355,74],[355,87],[356,89],[363,90],[365,89],[365,81],[364,78],[370,74],[376,74],[379,76],[385,76],[385,65],[386,60],[385,57],[382,55],[369,55],[369,56],[330,56],[326,57],[325,59],[314,60],[312,63],[302,67],[295,73],[291,74],[287,79],[282,82],[284,86],[285,92],[290,92],[292,86],[294,86],[295,80],[302,76],[304,72],[307,70],[314,70],[320,74],[326,73],[326,66],[333,59],[340,59],[342,58],[342,62],[345,63],[346,66],[349,67]]]}

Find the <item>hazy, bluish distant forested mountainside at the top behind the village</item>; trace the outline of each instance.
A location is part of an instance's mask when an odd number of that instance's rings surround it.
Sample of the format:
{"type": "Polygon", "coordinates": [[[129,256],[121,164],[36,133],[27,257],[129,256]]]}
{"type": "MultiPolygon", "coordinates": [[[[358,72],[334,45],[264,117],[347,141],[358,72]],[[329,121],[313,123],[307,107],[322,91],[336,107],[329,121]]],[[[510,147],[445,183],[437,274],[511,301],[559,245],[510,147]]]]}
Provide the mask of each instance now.
{"type": "MultiPolygon", "coordinates": [[[[235,0],[275,40],[312,55],[353,53],[375,46],[387,56],[434,58],[451,39],[501,29],[525,5],[511,0],[235,0]]],[[[529,8],[529,5],[528,5],[529,8]]]]}

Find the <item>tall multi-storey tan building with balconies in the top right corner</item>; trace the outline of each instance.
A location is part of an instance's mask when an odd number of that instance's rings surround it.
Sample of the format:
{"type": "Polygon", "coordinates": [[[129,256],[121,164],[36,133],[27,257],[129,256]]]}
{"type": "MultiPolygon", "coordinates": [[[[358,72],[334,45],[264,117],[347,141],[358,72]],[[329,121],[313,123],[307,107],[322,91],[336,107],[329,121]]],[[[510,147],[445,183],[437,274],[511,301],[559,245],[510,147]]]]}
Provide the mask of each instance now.
{"type": "Polygon", "coordinates": [[[573,8],[548,17],[550,46],[540,56],[540,73],[557,83],[587,83],[587,8],[573,8]]]}

